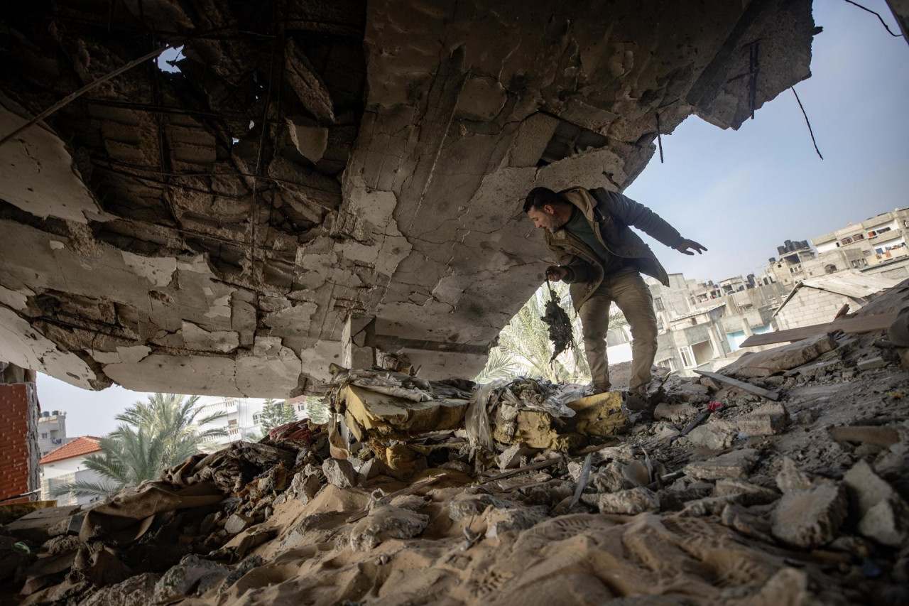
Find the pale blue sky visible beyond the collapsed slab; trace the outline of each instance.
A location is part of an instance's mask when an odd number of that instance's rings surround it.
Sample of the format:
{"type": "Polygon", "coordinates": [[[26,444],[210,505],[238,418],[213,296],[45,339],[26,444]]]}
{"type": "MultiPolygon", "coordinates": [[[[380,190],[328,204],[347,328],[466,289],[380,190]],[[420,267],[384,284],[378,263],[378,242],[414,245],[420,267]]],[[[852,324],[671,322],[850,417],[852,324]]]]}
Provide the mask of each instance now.
{"type": "MultiPolygon", "coordinates": [[[[884,0],[863,4],[895,29],[884,0]]],[[[714,280],[760,273],[785,239],[909,206],[909,45],[841,0],[815,0],[814,21],[824,32],[814,37],[813,75],[795,89],[824,160],[788,91],[738,131],[689,117],[663,137],[665,164],[654,156],[625,191],[710,249],[692,258],[652,242],[669,271],[714,280]]],[[[114,415],[145,394],[40,375],[38,398],[45,410],[66,410],[78,436],[115,429],[114,415]]]]}

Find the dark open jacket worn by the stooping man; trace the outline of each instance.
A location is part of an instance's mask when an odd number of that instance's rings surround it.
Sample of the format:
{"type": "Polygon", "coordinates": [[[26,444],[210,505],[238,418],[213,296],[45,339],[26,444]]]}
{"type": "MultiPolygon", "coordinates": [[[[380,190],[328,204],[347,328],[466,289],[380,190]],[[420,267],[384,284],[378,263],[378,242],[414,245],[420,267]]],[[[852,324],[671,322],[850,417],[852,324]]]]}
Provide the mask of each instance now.
{"type": "MultiPolygon", "coordinates": [[[[631,259],[632,265],[638,271],[653,276],[665,286],[669,286],[666,270],[656,260],[650,247],[644,244],[644,240],[629,226],[637,227],[667,247],[673,248],[682,244],[684,240],[674,227],[650,208],[638,204],[630,197],[602,187],[590,190],[573,187],[559,192],[559,195],[584,213],[594,234],[600,237],[603,246],[609,252],[617,257],[631,259]]],[[[558,264],[568,269],[564,281],[571,284],[569,291],[574,308],[580,309],[584,301],[603,282],[603,264],[590,247],[564,229],[559,229],[555,233],[546,230],[545,238],[546,245],[553,251],[558,264]]]]}

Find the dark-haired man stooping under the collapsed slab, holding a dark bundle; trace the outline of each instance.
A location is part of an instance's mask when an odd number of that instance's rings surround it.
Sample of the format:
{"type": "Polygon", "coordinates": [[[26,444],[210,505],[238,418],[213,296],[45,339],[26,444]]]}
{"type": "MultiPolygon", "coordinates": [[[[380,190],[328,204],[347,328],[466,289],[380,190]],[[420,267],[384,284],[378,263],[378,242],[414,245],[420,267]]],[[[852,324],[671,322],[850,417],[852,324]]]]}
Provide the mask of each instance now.
{"type": "Polygon", "coordinates": [[[610,387],[606,360],[609,306],[614,301],[631,326],[632,377],[628,407],[644,409],[650,368],[656,356],[656,315],[650,289],[641,273],[669,286],[666,270],[634,226],[685,255],[706,248],[686,239],[664,219],[629,197],[603,188],[574,187],[555,193],[535,187],[524,201],[534,226],[545,229],[546,244],[557,266],[546,277],[571,286],[574,310],[584,327],[584,351],[597,391],[610,387]]]}

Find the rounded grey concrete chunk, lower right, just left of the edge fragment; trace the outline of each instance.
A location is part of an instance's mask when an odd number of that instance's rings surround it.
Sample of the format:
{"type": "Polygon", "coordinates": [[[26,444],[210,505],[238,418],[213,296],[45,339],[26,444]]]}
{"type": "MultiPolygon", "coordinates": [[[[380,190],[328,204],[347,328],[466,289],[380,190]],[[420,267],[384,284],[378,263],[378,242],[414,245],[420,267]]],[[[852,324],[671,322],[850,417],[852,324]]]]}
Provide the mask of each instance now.
{"type": "Polygon", "coordinates": [[[785,491],[774,510],[771,530],[788,545],[818,547],[836,538],[848,509],[846,491],[834,482],[785,491]]]}

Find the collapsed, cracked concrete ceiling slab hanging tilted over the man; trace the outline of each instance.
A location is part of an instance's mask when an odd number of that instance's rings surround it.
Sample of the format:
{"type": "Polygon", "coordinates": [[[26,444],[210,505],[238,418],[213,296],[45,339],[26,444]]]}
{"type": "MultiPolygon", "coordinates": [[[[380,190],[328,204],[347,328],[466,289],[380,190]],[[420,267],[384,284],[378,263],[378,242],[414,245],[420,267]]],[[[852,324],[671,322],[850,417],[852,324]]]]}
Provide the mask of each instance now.
{"type": "MultiPolygon", "coordinates": [[[[0,359],[318,392],[351,313],[472,376],[542,279],[532,187],[622,190],[810,76],[810,0],[65,0],[0,17],[0,359]]],[[[648,201],[652,207],[671,201],[648,201]]]]}

